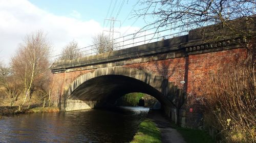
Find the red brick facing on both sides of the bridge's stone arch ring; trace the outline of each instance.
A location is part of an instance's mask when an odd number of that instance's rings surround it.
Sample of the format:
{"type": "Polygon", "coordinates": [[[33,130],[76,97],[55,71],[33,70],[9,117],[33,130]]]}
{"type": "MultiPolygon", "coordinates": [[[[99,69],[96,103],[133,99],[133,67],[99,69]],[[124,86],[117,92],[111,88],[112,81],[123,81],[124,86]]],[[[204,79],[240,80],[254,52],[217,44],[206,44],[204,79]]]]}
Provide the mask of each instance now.
{"type": "MultiPolygon", "coordinates": [[[[187,100],[182,109],[186,110],[186,122],[190,127],[201,125],[203,117],[202,100],[207,94],[207,86],[212,74],[220,72],[226,65],[236,65],[238,60],[246,57],[246,49],[231,49],[225,51],[209,52],[203,54],[189,55],[183,58],[166,59],[124,65],[127,68],[137,68],[149,73],[168,78],[179,88],[187,92],[187,100]],[[181,84],[180,81],[186,81],[181,84]],[[189,109],[193,108],[193,112],[189,109]]],[[[75,71],[58,73],[53,75],[53,90],[55,98],[63,93],[65,87],[74,81],[81,74],[93,72],[94,70],[75,71]]],[[[219,78],[225,75],[220,74],[219,78]]]]}

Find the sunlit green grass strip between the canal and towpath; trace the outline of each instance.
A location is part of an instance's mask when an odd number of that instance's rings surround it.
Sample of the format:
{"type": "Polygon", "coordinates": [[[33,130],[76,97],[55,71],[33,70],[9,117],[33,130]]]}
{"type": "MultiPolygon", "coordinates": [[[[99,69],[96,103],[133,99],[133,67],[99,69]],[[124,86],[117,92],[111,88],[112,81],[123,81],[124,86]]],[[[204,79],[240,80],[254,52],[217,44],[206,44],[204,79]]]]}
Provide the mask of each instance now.
{"type": "Polygon", "coordinates": [[[138,131],[131,142],[132,143],[161,142],[161,132],[157,128],[154,122],[146,119],[140,123],[138,131]]]}

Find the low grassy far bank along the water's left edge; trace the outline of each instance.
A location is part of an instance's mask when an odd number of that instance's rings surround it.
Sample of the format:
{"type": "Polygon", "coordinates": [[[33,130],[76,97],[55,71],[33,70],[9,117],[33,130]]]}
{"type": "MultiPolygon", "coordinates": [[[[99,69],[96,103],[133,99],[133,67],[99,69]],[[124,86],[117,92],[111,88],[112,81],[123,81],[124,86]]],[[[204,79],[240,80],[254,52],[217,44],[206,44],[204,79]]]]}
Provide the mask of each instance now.
{"type": "Polygon", "coordinates": [[[35,113],[35,112],[59,112],[58,107],[35,107],[30,109],[20,109],[18,106],[0,106],[0,119],[3,116],[13,115],[17,113],[35,113]]]}

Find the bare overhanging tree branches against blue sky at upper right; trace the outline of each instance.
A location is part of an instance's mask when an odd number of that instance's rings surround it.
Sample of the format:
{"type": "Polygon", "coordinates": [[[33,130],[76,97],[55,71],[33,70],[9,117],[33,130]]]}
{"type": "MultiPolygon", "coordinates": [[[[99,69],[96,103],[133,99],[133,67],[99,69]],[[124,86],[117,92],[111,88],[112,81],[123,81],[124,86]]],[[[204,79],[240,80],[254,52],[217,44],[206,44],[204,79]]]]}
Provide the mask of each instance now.
{"type": "Polygon", "coordinates": [[[228,30],[228,36],[255,37],[255,1],[252,0],[141,0],[140,2],[143,8],[136,10],[134,16],[144,18],[147,25],[143,28],[150,25],[157,28],[169,26],[176,32],[188,32],[195,28],[218,24],[219,26],[207,27],[203,31],[215,33],[213,39],[226,35],[223,30],[228,30]],[[148,21],[152,19],[153,21],[148,21]]]}

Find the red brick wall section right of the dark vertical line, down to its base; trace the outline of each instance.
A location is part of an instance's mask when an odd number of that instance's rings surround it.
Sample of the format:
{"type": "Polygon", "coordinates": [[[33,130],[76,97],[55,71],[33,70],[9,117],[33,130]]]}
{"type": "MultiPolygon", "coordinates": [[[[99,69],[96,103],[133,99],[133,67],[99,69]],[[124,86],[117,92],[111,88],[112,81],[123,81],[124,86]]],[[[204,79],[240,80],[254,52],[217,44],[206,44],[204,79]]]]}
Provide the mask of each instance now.
{"type": "Polygon", "coordinates": [[[218,52],[209,52],[188,56],[187,77],[187,103],[183,107],[186,110],[187,124],[198,127],[202,119],[202,102],[207,94],[208,83],[212,75],[225,78],[221,74],[226,66],[234,66],[238,60],[246,58],[246,49],[232,49],[218,52]],[[193,112],[189,109],[193,108],[193,112]]]}

